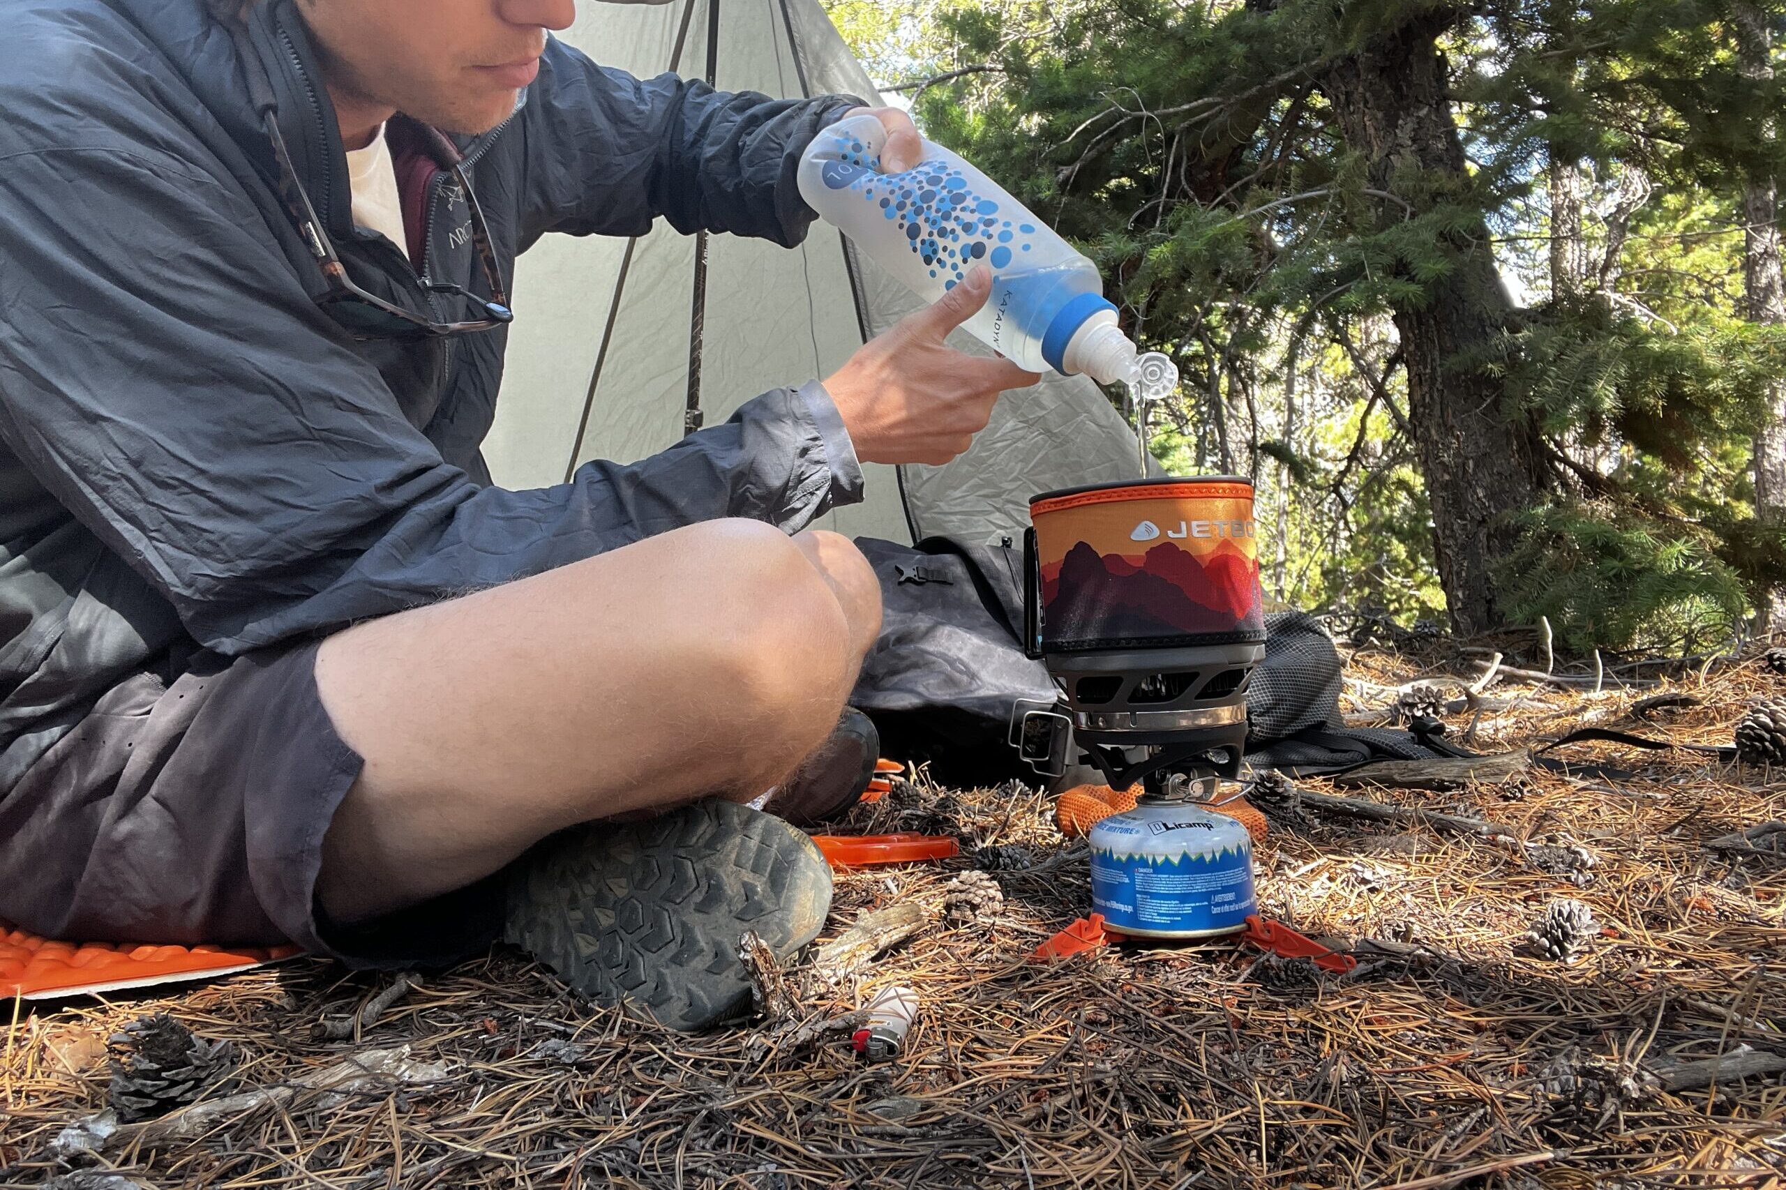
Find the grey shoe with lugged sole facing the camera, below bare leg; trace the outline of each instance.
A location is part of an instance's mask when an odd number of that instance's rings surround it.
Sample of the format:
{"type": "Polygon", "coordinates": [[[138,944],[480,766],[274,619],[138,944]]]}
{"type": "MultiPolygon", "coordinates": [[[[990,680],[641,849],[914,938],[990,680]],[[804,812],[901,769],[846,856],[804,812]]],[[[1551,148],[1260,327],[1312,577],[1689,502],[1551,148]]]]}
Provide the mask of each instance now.
{"type": "Polygon", "coordinates": [[[725,800],[554,834],[509,877],[504,938],[579,995],[693,1033],[748,1008],[738,938],[789,958],[830,911],[804,833],[725,800]]]}

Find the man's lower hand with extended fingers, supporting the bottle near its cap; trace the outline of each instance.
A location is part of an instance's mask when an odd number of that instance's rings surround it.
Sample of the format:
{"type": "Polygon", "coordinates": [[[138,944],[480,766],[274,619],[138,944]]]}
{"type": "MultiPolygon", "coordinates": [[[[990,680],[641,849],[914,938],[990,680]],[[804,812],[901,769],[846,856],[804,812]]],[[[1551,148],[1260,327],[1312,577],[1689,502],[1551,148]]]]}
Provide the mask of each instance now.
{"type": "Polygon", "coordinates": [[[825,379],[863,463],[941,465],[986,429],[1007,388],[1041,377],[1009,359],[968,356],[943,339],[986,304],[991,270],[975,268],[938,302],[863,343],[825,379]]]}

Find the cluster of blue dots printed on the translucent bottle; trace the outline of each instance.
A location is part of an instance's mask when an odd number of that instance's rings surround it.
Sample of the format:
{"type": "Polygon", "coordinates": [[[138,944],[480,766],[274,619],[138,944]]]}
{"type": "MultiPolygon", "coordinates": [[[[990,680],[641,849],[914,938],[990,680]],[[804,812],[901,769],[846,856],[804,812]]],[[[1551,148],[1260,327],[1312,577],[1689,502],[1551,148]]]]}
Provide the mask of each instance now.
{"type": "Polygon", "coordinates": [[[973,193],[961,170],[943,159],[923,161],[904,173],[880,173],[880,159],[870,157],[857,139],[843,141],[836,159],[827,161],[820,177],[830,189],[854,189],[880,207],[880,214],[898,220],[913,254],[943,275],[943,288],[954,289],[973,261],[988,259],[993,268],[1011,263],[1011,245],[1029,252],[1032,223],[998,220],[998,202],[973,193]]]}

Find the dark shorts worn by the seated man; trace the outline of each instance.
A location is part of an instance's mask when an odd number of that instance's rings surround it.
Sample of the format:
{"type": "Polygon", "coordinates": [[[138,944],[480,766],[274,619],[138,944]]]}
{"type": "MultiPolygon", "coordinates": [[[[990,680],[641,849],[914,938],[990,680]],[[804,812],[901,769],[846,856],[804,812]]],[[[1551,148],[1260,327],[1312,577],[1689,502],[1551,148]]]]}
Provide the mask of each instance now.
{"type": "Polygon", "coordinates": [[[130,677],[0,793],[0,918],[71,942],[295,942],[355,967],[489,945],[493,881],[361,926],[316,906],[323,834],[361,770],[316,695],[316,645],[130,677]]]}

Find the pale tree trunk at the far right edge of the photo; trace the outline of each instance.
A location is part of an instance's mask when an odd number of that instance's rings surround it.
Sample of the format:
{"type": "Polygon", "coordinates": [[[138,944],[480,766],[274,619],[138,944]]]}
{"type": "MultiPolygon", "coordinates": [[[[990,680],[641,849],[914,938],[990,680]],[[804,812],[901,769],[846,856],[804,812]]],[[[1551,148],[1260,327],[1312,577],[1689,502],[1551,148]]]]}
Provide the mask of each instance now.
{"type": "MultiPolygon", "coordinates": [[[[1748,79],[1772,79],[1772,30],[1761,9],[1747,0],[1732,5],[1736,61],[1748,79]]],[[[1763,136],[1773,139],[1770,120],[1763,136]]],[[[1786,281],[1781,275],[1781,230],[1772,177],[1750,179],[1743,188],[1743,313],[1766,325],[1786,325],[1786,281]]],[[[1786,516],[1786,381],[1768,386],[1761,432],[1756,434],[1756,515],[1786,516]]],[[[1786,599],[1770,591],[1757,609],[1763,633],[1786,631],[1786,599]]]]}

